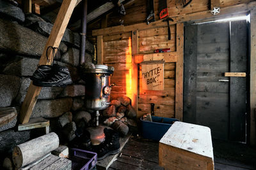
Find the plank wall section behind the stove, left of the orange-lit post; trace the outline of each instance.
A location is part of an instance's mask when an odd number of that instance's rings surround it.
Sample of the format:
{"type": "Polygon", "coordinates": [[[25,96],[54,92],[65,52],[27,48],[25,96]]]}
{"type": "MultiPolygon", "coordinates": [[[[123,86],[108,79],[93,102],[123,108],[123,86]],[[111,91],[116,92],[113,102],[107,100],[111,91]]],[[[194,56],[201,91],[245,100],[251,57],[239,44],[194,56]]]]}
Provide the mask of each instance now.
{"type": "Polygon", "coordinates": [[[111,83],[111,99],[121,96],[131,97],[131,32],[103,36],[103,64],[115,67],[111,83]]]}

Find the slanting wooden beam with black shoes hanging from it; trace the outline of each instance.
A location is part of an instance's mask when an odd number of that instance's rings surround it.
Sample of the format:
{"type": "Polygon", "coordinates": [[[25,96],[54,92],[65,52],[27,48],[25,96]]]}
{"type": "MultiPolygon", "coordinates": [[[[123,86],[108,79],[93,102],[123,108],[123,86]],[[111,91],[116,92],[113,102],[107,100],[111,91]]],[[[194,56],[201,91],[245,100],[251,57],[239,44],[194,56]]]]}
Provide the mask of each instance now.
{"type": "MultiPolygon", "coordinates": [[[[58,47],[60,45],[61,39],[63,37],[63,34],[67,28],[68,21],[70,20],[70,17],[72,15],[72,12],[76,6],[77,0],[64,0],[60,11],[58,13],[58,16],[56,18],[56,21],[52,27],[51,34],[48,38],[48,41],[45,45],[44,52],[40,58],[39,65],[51,65],[52,64],[52,51],[49,50],[48,56],[49,61],[46,59],[46,50],[48,46],[54,46],[58,47]]],[[[21,109],[20,109],[20,123],[25,124],[28,123],[29,118],[31,116],[31,113],[33,111],[33,108],[35,107],[36,100],[40,94],[42,87],[36,87],[31,82],[28,88],[28,93],[26,94],[26,97],[22,103],[21,109]]]]}

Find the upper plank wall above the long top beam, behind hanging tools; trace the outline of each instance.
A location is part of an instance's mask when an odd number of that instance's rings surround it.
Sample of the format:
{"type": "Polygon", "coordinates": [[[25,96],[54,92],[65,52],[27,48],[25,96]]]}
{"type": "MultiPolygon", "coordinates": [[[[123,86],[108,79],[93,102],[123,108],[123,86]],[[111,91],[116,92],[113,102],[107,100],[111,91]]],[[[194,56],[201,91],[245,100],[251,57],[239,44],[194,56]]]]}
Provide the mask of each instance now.
{"type": "MultiPolygon", "coordinates": [[[[223,0],[220,1],[221,8],[242,4],[242,3],[250,3],[253,0],[223,0]]],[[[159,20],[158,14],[158,3],[159,0],[154,0],[154,10],[156,15],[156,20],[159,20]]],[[[131,1],[125,6],[126,15],[122,16],[122,20],[124,20],[124,25],[132,25],[145,22],[145,18],[147,15],[147,1],[145,0],[134,0],[131,1]]],[[[177,0],[168,0],[168,13],[170,17],[175,17],[178,15],[185,15],[188,13],[195,13],[200,11],[207,11],[211,8],[210,0],[193,0],[186,8],[183,8],[182,1],[177,0]]],[[[108,27],[113,27],[116,25],[120,25],[120,17],[116,15],[115,12],[109,13],[107,25],[108,27]]],[[[88,25],[88,28],[92,29],[100,29],[100,20],[88,25]]]]}

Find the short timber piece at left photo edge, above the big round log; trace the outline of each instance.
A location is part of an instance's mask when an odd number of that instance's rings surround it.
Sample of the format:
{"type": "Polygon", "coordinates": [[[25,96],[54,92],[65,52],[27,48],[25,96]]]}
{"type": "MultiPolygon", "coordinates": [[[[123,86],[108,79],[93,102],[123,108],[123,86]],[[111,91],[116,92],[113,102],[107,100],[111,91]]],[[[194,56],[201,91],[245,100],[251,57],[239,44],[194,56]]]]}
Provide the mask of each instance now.
{"type": "Polygon", "coordinates": [[[17,117],[17,110],[13,107],[0,108],[0,127],[17,117]]]}

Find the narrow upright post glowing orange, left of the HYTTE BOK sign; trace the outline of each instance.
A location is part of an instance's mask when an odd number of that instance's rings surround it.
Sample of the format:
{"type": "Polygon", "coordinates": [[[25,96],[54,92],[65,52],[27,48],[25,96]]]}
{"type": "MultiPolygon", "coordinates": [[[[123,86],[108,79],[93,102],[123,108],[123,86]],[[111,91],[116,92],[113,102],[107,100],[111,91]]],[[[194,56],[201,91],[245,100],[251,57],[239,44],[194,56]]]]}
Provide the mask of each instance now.
{"type": "MultiPolygon", "coordinates": [[[[132,31],[132,106],[136,113],[138,112],[138,64],[136,63],[135,56],[138,54],[139,49],[139,31],[132,31]]],[[[137,114],[138,116],[138,114],[137,114]]]]}

